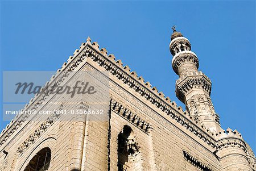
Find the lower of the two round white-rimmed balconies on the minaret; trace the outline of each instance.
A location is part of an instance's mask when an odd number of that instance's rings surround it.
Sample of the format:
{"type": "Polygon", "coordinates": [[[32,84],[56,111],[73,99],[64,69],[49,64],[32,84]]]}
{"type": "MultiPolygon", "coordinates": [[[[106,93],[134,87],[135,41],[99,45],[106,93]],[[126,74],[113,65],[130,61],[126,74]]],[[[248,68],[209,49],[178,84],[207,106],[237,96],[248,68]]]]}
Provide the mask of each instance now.
{"type": "Polygon", "coordinates": [[[181,64],[185,62],[190,62],[196,65],[196,68],[199,68],[199,60],[195,53],[191,51],[182,51],[177,53],[172,59],[172,69],[176,74],[179,74],[178,69],[181,64]]]}

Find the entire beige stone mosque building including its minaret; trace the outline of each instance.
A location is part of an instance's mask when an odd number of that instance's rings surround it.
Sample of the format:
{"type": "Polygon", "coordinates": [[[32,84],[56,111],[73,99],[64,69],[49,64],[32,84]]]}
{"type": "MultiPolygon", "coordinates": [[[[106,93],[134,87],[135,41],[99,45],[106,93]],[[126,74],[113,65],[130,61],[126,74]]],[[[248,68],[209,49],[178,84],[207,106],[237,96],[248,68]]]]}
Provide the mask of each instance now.
{"type": "MultiPolygon", "coordinates": [[[[250,147],[236,130],[222,130],[210,100],[211,82],[198,71],[188,39],[174,30],[172,67],[180,76],[170,98],[86,40],[48,85],[73,84],[79,70],[109,73],[106,115],[17,116],[0,136],[0,170],[256,170],[250,147]],[[102,119],[102,117],[106,117],[102,119]]],[[[101,95],[95,97],[102,98],[101,95]]],[[[24,110],[88,109],[88,98],[39,94],[24,110]],[[57,102],[57,103],[56,103],[57,102]]]]}

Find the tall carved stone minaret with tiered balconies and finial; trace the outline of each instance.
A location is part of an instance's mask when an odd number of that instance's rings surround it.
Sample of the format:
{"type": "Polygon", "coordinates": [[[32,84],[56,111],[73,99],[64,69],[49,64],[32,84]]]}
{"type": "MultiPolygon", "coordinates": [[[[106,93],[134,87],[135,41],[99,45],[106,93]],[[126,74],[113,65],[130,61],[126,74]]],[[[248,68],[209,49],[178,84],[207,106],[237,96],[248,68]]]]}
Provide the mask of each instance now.
{"type": "Polygon", "coordinates": [[[170,51],[174,56],[172,68],[179,75],[176,80],[176,96],[186,106],[187,111],[200,124],[210,131],[221,129],[218,114],[216,114],[210,91],[212,82],[204,73],[198,70],[199,60],[191,51],[191,44],[180,32],[172,27],[170,51]]]}

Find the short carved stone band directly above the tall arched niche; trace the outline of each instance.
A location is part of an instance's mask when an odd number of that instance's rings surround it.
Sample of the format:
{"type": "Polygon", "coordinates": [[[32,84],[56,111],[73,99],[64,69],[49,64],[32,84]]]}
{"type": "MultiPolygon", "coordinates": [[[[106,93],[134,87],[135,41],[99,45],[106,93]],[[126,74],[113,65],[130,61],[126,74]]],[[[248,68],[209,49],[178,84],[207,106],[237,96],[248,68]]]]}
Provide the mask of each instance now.
{"type": "Polygon", "coordinates": [[[140,130],[142,130],[146,134],[150,133],[151,125],[147,123],[145,120],[143,120],[142,118],[140,118],[138,115],[134,114],[134,112],[131,112],[129,109],[121,105],[121,103],[118,103],[114,99],[111,99],[110,107],[113,111],[115,111],[117,114],[122,116],[122,118],[125,118],[126,120],[128,120],[135,127],[138,127],[140,130]]]}

